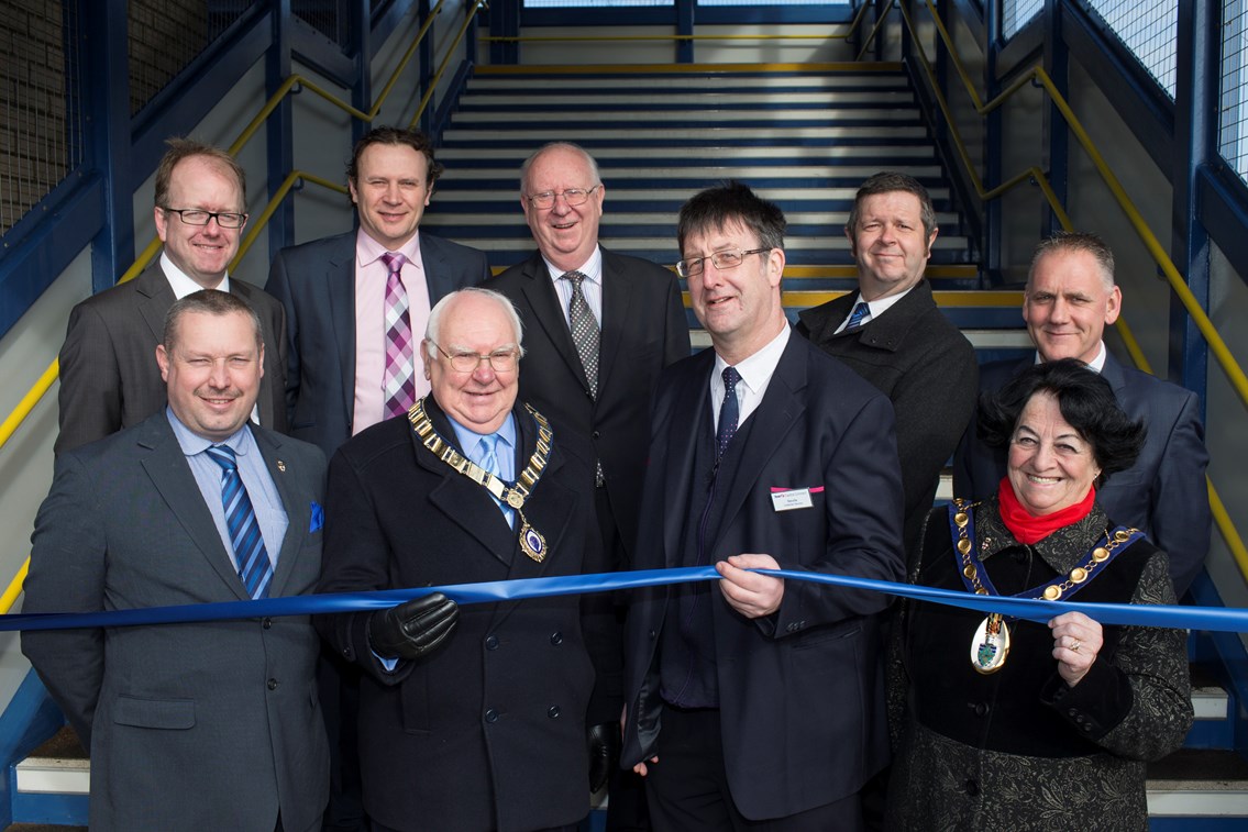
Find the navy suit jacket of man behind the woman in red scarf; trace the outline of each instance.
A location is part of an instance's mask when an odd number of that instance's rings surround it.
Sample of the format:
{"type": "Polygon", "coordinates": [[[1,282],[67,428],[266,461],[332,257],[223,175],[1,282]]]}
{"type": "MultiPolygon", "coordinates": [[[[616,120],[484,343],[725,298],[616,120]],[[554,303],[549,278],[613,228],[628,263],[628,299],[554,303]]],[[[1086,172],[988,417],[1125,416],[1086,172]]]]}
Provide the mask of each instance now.
{"type": "MultiPolygon", "coordinates": [[[[1001,389],[1032,360],[1028,357],[985,365],[981,389],[1001,389]]],[[[1201,573],[1213,528],[1204,480],[1209,452],[1204,448],[1199,399],[1192,390],[1123,367],[1109,354],[1101,375],[1127,415],[1143,420],[1148,434],[1136,464],[1111,475],[1097,490],[1097,501],[1111,520],[1139,528],[1166,550],[1174,595],[1182,597],[1201,573]]],[[[955,496],[987,499],[996,494],[1005,473],[1005,450],[980,442],[972,422],[953,459],[955,496]]]]}

